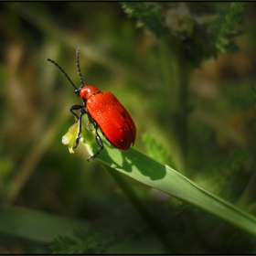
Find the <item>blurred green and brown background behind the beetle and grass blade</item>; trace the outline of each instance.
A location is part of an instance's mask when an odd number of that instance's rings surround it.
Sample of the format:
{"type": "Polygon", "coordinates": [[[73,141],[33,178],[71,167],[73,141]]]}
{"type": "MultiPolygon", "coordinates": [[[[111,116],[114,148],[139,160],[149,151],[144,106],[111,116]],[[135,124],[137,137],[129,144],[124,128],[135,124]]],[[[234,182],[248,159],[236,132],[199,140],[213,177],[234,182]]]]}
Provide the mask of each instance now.
{"type": "MultiPolygon", "coordinates": [[[[190,5],[196,9],[226,4],[190,5]]],[[[26,229],[33,229],[29,220],[42,221],[40,212],[51,214],[53,222],[74,220],[70,232],[77,219],[90,230],[106,229],[100,239],[92,232],[90,241],[94,245],[112,236],[109,243],[102,242],[103,251],[166,252],[97,160],[88,163],[81,145],[70,155],[61,143],[74,123],[69,107],[80,99],[46,59],[56,60],[79,86],[76,48],[84,82],[112,91],[133,116],[135,148],[160,162],[168,155],[165,164],[255,214],[255,7],[250,3],[245,8],[244,33],[234,39],[240,51],[219,54],[190,73],[184,154],[182,129],[176,125],[182,105],[177,102],[182,73],[177,74],[172,55],[176,48],[137,27],[119,3],[0,3],[0,201],[24,227],[0,227],[0,253],[51,252],[52,237],[32,240],[33,230],[26,229]],[[111,234],[113,223],[119,235],[111,234]]],[[[165,13],[169,6],[161,8],[165,13]]],[[[128,181],[162,221],[176,252],[254,250],[254,239],[219,219],[128,181]]],[[[8,215],[1,221],[5,225],[8,215]]],[[[63,235],[50,223],[46,221],[45,228],[56,233],[53,237],[63,235]]]]}

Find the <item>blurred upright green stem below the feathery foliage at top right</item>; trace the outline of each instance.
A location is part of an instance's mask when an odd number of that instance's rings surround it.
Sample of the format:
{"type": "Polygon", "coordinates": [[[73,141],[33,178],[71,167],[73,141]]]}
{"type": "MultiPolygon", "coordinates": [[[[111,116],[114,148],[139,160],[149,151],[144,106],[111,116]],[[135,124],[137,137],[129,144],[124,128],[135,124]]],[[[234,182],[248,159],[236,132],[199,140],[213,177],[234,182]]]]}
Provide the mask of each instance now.
{"type": "Polygon", "coordinates": [[[184,48],[175,37],[159,39],[165,101],[170,106],[170,129],[176,138],[176,155],[180,158],[180,172],[187,170],[188,81],[192,65],[184,58],[184,48]],[[172,129],[174,127],[174,129],[172,129]],[[172,131],[173,130],[173,131],[172,131]]]}

